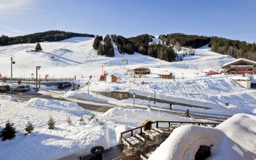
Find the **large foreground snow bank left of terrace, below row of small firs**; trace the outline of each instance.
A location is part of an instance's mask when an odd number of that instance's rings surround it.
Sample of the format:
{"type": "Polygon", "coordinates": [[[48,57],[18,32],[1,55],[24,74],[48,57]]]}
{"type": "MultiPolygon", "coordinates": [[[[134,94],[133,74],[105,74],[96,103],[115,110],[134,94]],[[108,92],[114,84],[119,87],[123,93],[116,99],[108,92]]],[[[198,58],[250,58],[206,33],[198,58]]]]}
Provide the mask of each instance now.
{"type": "Polygon", "coordinates": [[[71,126],[63,124],[50,130],[44,128],[27,136],[0,142],[0,156],[3,160],[57,160],[72,154],[90,153],[94,146],[109,148],[108,126],[100,126],[96,120],[90,123],[77,122],[71,126]],[[10,154],[10,151],[15,151],[10,154]]]}

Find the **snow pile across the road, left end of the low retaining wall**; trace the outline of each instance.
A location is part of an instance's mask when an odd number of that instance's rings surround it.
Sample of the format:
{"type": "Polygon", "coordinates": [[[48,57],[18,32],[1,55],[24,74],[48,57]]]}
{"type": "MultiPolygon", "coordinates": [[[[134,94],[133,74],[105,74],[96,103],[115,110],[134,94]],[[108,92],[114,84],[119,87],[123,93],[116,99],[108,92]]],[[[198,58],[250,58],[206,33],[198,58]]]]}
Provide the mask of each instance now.
{"type": "Polygon", "coordinates": [[[101,103],[108,103],[108,100],[104,98],[100,98],[100,95],[92,95],[91,93],[88,94],[87,88],[81,88],[80,90],[73,90],[66,92],[64,94],[66,98],[74,98],[74,99],[82,99],[82,100],[89,100],[94,102],[101,102],[101,103]]]}

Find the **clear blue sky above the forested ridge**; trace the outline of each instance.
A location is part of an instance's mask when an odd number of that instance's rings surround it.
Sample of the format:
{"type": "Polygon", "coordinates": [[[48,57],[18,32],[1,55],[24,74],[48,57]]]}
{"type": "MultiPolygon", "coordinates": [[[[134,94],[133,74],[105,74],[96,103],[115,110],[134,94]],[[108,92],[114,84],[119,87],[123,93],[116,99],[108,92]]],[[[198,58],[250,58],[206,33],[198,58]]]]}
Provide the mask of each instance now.
{"type": "Polygon", "coordinates": [[[256,0],[0,0],[0,34],[184,33],[256,41],[256,0]]]}

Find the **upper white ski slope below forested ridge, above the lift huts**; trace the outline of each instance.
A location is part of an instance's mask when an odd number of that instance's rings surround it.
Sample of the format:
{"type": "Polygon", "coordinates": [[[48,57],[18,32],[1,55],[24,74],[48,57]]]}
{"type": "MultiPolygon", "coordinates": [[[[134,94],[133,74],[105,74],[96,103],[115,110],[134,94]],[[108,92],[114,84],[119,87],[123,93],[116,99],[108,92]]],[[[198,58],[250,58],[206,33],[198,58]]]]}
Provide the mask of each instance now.
{"type": "MultiPolygon", "coordinates": [[[[154,40],[157,38],[154,38],[154,40]]],[[[155,40],[155,41],[159,41],[155,40]]],[[[166,62],[150,56],[143,56],[135,53],[134,55],[122,55],[115,48],[115,57],[98,56],[97,51],[92,48],[94,38],[74,37],[60,42],[40,42],[42,52],[30,52],[34,50],[31,46],[36,44],[16,44],[0,47],[2,74],[10,75],[10,56],[16,62],[13,65],[13,77],[30,74],[35,72],[35,66],[42,66],[41,75],[49,74],[55,77],[73,77],[74,75],[100,76],[102,74],[102,64],[104,70],[110,72],[116,68],[124,68],[122,58],[127,58],[126,68],[145,66],[156,68],[187,68],[192,70],[204,70],[211,66],[220,70],[221,66],[234,60],[231,56],[224,56],[210,52],[208,47],[196,49],[195,56],[185,56],[182,62],[166,62]],[[66,49],[66,50],[63,50],[66,49]],[[26,52],[28,50],[28,52],[26,52]],[[55,56],[54,59],[51,56],[55,56]],[[106,65],[105,65],[106,64],[106,65]]],[[[183,48],[182,48],[183,49],[183,48]]],[[[180,51],[178,54],[182,54],[180,51]]]]}

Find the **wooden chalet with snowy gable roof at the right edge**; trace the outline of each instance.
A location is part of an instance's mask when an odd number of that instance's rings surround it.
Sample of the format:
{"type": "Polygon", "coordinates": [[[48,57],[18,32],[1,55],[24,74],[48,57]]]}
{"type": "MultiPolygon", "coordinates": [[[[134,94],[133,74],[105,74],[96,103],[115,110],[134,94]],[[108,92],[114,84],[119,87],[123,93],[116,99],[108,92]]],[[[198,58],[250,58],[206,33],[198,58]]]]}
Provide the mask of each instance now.
{"type": "Polygon", "coordinates": [[[236,74],[254,74],[256,72],[256,62],[239,58],[232,62],[228,62],[222,66],[225,72],[236,74]]]}

